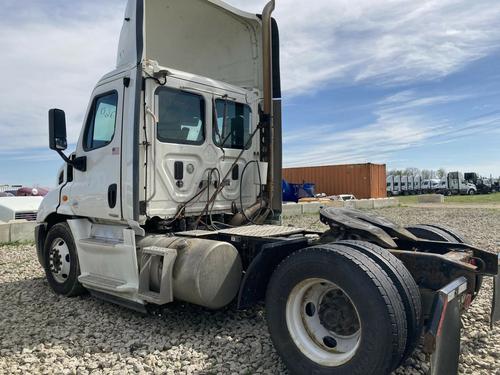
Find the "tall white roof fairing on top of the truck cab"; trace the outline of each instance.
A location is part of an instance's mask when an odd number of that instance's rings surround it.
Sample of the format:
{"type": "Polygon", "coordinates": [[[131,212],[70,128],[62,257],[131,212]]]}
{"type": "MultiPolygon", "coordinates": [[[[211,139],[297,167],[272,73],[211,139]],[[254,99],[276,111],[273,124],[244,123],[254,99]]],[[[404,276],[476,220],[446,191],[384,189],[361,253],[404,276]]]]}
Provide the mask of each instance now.
{"type": "Polygon", "coordinates": [[[262,23],[219,0],[129,0],[117,68],[145,60],[262,90],[262,23]]]}

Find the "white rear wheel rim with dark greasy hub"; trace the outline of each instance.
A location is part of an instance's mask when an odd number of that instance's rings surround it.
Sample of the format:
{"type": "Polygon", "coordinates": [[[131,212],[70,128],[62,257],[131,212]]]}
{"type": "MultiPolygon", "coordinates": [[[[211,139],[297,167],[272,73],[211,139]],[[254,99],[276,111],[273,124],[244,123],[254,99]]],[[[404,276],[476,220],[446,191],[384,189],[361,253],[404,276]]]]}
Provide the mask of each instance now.
{"type": "Polygon", "coordinates": [[[288,296],[286,323],[299,350],[322,366],[340,366],[357,352],[361,320],[349,296],[325,279],[306,279],[288,296]]]}

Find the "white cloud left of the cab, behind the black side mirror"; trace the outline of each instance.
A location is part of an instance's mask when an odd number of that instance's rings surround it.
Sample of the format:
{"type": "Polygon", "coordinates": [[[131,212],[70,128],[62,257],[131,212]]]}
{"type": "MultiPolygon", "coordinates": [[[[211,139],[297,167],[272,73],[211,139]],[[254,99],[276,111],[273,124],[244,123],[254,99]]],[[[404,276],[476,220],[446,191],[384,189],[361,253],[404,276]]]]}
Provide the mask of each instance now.
{"type": "Polygon", "coordinates": [[[0,153],[46,148],[47,111],[54,107],[66,111],[69,141],[77,139],[93,86],[115,65],[124,11],[116,4],[80,6],[67,17],[48,4],[2,16],[0,153]]]}

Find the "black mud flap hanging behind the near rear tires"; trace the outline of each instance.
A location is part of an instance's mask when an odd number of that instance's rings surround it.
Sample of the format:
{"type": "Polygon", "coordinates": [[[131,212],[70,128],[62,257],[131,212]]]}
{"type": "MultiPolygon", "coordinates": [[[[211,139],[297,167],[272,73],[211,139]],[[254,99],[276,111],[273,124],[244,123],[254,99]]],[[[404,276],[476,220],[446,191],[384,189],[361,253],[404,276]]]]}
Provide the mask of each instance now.
{"type": "Polygon", "coordinates": [[[431,353],[431,375],[458,373],[462,297],[467,279],[460,277],[437,291],[432,318],[426,328],[424,348],[431,353]]]}

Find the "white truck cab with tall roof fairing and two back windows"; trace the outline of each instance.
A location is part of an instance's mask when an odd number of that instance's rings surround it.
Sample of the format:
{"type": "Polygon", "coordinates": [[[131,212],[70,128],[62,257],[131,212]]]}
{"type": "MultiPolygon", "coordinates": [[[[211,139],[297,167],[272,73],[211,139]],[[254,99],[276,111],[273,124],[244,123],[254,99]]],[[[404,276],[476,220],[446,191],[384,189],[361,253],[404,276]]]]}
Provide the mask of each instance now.
{"type": "MultiPolygon", "coordinates": [[[[73,161],[52,192],[61,199],[45,201],[51,207],[42,208],[40,221],[44,214],[138,225],[169,221],[180,205],[214,184],[227,187],[210,202],[211,214],[231,213],[233,202],[254,204],[267,174],[281,171],[281,148],[270,157],[269,135],[262,134],[267,129],[259,128],[261,33],[257,16],[218,2],[129,1],[117,67],[97,83],[73,161]],[[231,17],[222,16],[227,9],[231,17]],[[189,19],[179,20],[180,13],[189,19]],[[225,37],[218,33],[221,19],[225,37]],[[166,34],[171,37],[165,40],[166,34]],[[179,51],[178,44],[185,48],[179,51]],[[278,162],[272,172],[270,159],[278,162]]],[[[270,100],[279,112],[276,76],[270,100]]],[[[279,134],[278,116],[274,120],[279,134]]],[[[278,193],[272,207],[277,218],[278,193]]],[[[207,199],[209,194],[200,194],[183,208],[185,214],[199,214],[207,199]]]]}

